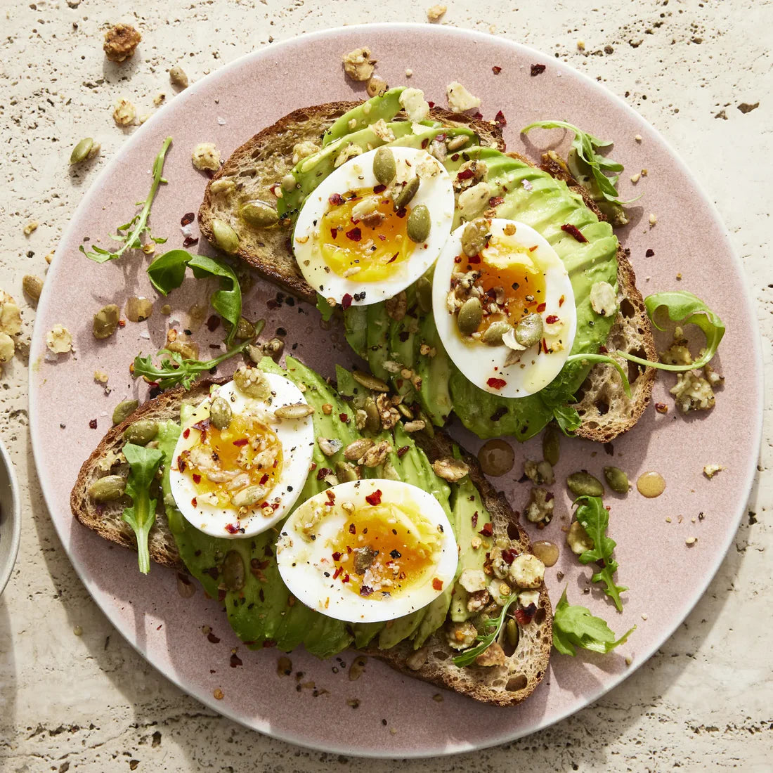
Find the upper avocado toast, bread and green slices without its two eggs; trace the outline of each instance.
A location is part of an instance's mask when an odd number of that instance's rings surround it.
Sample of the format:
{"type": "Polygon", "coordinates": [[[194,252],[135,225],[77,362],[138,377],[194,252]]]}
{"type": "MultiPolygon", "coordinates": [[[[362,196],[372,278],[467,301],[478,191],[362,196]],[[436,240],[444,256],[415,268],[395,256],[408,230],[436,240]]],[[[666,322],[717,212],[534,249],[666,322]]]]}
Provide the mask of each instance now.
{"type": "MultiPolygon", "coordinates": [[[[433,107],[427,120],[407,120],[402,89],[363,104],[331,103],[295,111],[264,129],[226,161],[209,182],[199,210],[202,233],[223,245],[216,230],[233,234],[228,249],[259,273],[300,298],[318,295],[303,278],[291,250],[292,225],[305,197],[331,174],[342,153],[381,145],[437,148],[444,168],[460,182],[471,165],[485,169],[489,217],[518,220],[547,239],[567,267],[577,307],[574,356],[607,349],[655,359],[656,351],[631,264],[611,226],[591,197],[554,155],[537,168],[504,153],[498,124],[468,119],[433,107]],[[379,122],[390,135],[378,128],[379,122]],[[376,126],[376,128],[374,128],[376,126]],[[384,138],[392,136],[389,142],[384,138]],[[442,145],[442,148],[440,148],[442,145]],[[353,150],[352,150],[353,148],[353,150]],[[234,241],[235,240],[235,241],[234,241]],[[615,314],[599,315],[591,304],[595,284],[615,291],[615,314]]],[[[457,206],[455,225],[461,223],[457,206]]],[[[499,397],[471,383],[447,355],[423,300],[431,272],[390,301],[343,309],[347,339],[373,374],[391,380],[407,404],[425,420],[443,426],[454,412],[480,438],[533,437],[571,407],[576,434],[609,441],[632,427],[649,402],[654,373],[628,369],[632,394],[608,366],[567,363],[549,386],[528,397],[499,397]],[[405,375],[408,373],[408,376],[405,375]]],[[[322,298],[324,304],[325,299],[322,298]]]]}

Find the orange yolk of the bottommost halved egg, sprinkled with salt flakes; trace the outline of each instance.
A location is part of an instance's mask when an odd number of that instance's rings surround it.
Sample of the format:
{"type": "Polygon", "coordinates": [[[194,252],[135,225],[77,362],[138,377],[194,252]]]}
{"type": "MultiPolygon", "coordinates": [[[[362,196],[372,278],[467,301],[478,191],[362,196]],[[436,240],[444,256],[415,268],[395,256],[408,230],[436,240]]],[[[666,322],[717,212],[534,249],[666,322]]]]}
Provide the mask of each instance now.
{"type": "MultiPolygon", "coordinates": [[[[417,513],[394,503],[357,508],[346,527],[329,540],[333,578],[353,594],[373,599],[397,597],[429,580],[440,546],[433,528],[417,513]]],[[[432,580],[435,591],[443,584],[432,580]]]]}

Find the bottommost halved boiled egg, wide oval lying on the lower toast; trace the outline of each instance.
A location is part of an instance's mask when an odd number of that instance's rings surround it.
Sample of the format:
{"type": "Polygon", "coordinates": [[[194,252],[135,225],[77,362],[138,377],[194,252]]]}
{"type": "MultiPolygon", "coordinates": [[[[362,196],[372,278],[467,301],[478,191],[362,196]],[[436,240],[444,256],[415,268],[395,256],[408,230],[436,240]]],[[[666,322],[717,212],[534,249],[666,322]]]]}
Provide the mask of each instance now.
{"type": "Polygon", "coordinates": [[[366,479],[312,496],[277,543],[291,593],[349,622],[393,620],[424,608],[454,581],[456,540],[437,499],[414,485],[366,479]]]}

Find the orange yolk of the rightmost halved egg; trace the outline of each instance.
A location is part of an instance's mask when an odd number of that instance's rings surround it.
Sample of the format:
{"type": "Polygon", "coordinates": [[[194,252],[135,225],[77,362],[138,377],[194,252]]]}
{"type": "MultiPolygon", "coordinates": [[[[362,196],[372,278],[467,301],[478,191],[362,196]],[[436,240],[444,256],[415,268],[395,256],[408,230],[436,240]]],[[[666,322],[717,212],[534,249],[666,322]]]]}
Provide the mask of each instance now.
{"type": "Polygon", "coordinates": [[[479,332],[485,332],[493,322],[515,326],[527,314],[544,311],[545,277],[528,247],[504,236],[493,236],[475,259],[463,256],[463,260],[468,260],[468,271],[480,272],[475,285],[485,294],[484,305],[497,307],[496,312],[483,315],[479,332]]]}

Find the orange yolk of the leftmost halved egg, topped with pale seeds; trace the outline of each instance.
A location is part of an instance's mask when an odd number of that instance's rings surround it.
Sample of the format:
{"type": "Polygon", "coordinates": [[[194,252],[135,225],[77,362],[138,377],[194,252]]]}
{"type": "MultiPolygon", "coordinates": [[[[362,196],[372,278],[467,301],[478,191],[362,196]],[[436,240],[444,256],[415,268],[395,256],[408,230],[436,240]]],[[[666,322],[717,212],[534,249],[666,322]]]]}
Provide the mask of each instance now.
{"type": "Polygon", "coordinates": [[[192,479],[197,496],[219,507],[233,506],[236,492],[258,486],[264,503],[282,472],[282,446],[271,427],[248,414],[235,414],[230,425],[217,429],[208,420],[183,431],[196,432],[195,444],[178,457],[180,472],[192,479]]]}

